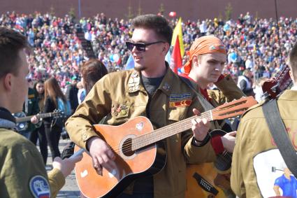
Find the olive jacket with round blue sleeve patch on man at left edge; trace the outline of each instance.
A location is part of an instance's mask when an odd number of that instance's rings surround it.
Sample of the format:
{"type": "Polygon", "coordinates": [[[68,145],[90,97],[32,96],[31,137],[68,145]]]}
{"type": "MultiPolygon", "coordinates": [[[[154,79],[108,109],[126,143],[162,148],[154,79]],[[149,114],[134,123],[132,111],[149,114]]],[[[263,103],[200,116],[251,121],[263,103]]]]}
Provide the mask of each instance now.
{"type": "Polygon", "coordinates": [[[46,173],[36,146],[0,128],[0,197],[56,197],[65,183],[61,171],[46,173]]]}

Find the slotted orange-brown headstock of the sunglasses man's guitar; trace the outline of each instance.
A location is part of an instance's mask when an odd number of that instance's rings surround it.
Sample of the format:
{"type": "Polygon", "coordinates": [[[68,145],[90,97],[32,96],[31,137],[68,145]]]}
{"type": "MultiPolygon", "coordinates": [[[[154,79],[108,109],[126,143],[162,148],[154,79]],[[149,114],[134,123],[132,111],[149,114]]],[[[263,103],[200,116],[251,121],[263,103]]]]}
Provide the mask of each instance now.
{"type": "Polygon", "coordinates": [[[257,101],[254,97],[242,97],[241,99],[231,101],[212,109],[212,120],[223,120],[242,115],[242,113],[247,111],[247,108],[255,104],[257,104],[257,101]]]}

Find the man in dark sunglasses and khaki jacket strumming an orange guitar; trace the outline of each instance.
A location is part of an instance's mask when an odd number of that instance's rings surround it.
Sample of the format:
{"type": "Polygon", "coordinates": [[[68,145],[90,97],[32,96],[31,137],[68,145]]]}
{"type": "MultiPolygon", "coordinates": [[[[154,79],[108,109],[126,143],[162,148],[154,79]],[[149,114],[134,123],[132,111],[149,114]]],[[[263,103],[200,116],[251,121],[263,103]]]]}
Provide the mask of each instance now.
{"type": "MultiPolygon", "coordinates": [[[[126,46],[133,55],[135,69],[109,73],[101,78],[66,122],[71,139],[81,148],[89,150],[92,157],[90,163],[93,163],[97,176],[106,176],[104,182],[92,186],[97,190],[108,185],[109,179],[117,177],[119,164],[115,162],[122,162],[122,159],[119,160],[122,154],[111,149],[112,145],[104,141],[101,132],[95,132],[92,126],[104,116],[107,115],[107,125],[121,125],[131,118],[145,116],[150,119],[154,129],[159,129],[204,111],[194,90],[164,62],[172,38],[172,29],[167,20],[157,15],[140,15],[133,19],[132,24],[133,36],[126,46]]],[[[191,120],[190,124],[192,130],[160,141],[166,150],[161,146],[157,148],[157,153],[166,154],[167,157],[164,168],[158,174],[138,178],[128,187],[125,186],[123,192],[110,197],[119,194],[119,197],[184,197],[186,164],[210,162],[215,158],[208,135],[210,122],[201,118],[191,120]]],[[[145,125],[146,122],[139,122],[135,127],[141,130],[145,125]]],[[[110,130],[115,137],[121,135],[121,131],[116,129],[110,130]]],[[[130,158],[126,156],[126,163],[133,160],[132,157],[137,157],[138,152],[142,150],[129,155],[130,158]]],[[[140,163],[152,164],[145,162],[145,159],[140,163]]],[[[91,171],[78,174],[83,178],[91,171]]],[[[122,178],[117,179],[120,181],[122,178]]],[[[88,180],[91,182],[92,178],[88,180]]],[[[115,190],[119,191],[118,188],[115,190]]]]}

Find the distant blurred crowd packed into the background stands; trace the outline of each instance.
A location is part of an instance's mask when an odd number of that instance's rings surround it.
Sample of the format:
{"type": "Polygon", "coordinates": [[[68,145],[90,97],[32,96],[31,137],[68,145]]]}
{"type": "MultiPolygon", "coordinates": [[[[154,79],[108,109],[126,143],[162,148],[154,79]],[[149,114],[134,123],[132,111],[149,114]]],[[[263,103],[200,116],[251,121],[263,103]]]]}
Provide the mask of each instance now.
{"type": "MultiPolygon", "coordinates": [[[[34,54],[29,57],[30,78],[55,77],[61,87],[79,76],[80,66],[87,56],[75,36],[75,20],[69,15],[6,13],[0,16],[0,26],[17,29],[25,34],[34,54]]],[[[171,19],[175,26],[178,19],[171,19]]],[[[110,19],[101,13],[82,17],[79,21],[85,38],[92,42],[96,56],[109,71],[122,70],[129,58],[125,41],[132,34],[131,21],[110,19]]],[[[260,19],[240,15],[236,20],[218,18],[187,20],[182,23],[185,51],[200,36],[214,34],[226,43],[228,62],[226,73],[238,77],[245,69],[254,71],[254,78],[270,78],[285,64],[289,49],[297,35],[297,20],[280,17],[260,19]]],[[[187,62],[187,55],[183,63],[187,62]]]]}

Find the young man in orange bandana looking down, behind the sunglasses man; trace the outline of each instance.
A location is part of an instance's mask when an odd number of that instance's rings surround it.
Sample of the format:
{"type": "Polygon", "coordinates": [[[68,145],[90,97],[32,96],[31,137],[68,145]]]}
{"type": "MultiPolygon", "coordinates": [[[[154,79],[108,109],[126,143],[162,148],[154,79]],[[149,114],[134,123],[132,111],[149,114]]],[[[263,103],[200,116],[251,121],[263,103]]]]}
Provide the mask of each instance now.
{"type": "MultiPolygon", "coordinates": [[[[215,36],[202,36],[194,41],[187,54],[189,55],[189,61],[184,65],[184,74],[182,76],[188,78],[189,80],[193,80],[196,84],[198,84],[196,91],[200,92],[211,106],[217,107],[225,102],[232,101],[233,99],[240,99],[245,96],[229,74],[222,74],[226,63],[226,49],[219,38],[215,36]],[[208,86],[212,83],[216,85],[218,90],[208,90],[208,86]]],[[[214,122],[214,125],[212,125],[211,128],[229,128],[230,131],[231,127],[225,124],[225,121],[214,122]]],[[[215,153],[218,155],[224,153],[225,150],[232,153],[235,146],[235,136],[236,132],[229,132],[224,136],[212,137],[210,141],[215,153]]],[[[213,166],[210,164],[205,164],[205,167],[201,167],[200,165],[189,165],[187,175],[191,176],[192,173],[189,172],[193,170],[199,173],[201,169],[205,169],[206,167],[213,166]]],[[[220,177],[221,180],[223,178],[224,181],[230,183],[229,173],[230,170],[219,171],[219,174],[217,174],[217,177],[214,178],[214,181],[212,182],[215,183],[215,180],[220,177]]],[[[191,189],[191,186],[189,186],[191,185],[191,182],[188,183],[188,189],[191,189]]],[[[196,188],[196,190],[198,190],[198,188],[196,188]]],[[[228,188],[224,188],[224,193],[226,196],[233,195],[230,186],[228,188]]],[[[201,190],[199,192],[189,190],[186,192],[186,197],[191,197],[193,194],[206,196],[203,194],[203,190],[202,192],[201,190]]]]}

